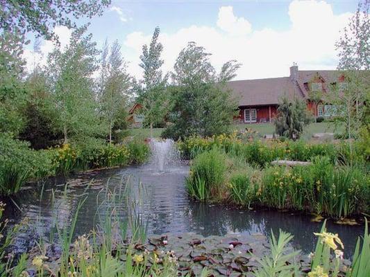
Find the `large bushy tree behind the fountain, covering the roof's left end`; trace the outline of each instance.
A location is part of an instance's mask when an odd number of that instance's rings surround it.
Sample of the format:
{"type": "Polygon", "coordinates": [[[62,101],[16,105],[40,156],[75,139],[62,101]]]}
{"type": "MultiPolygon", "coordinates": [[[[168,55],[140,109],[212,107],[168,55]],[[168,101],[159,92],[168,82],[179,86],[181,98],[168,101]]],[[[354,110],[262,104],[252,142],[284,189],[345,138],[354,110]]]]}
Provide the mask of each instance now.
{"type": "Polygon", "coordinates": [[[177,140],[230,131],[237,105],[225,82],[233,77],[239,64],[235,65],[235,61],[224,64],[217,76],[209,56],[194,42],[178,55],[172,74],[176,84],[171,88],[169,122],[172,124],[162,133],[163,137],[177,140]]]}

